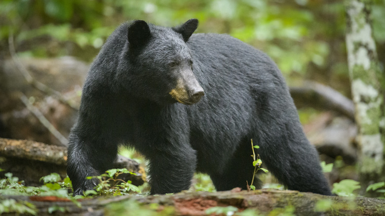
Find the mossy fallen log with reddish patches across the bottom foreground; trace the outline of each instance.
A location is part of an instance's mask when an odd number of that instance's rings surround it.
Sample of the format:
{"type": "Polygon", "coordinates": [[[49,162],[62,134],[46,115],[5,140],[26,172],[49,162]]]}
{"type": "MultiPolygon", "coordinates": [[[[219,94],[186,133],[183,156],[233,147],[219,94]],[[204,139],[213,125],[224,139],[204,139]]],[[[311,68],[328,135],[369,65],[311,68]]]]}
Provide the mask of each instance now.
{"type": "MultiPolygon", "coordinates": [[[[324,196],[298,191],[262,189],[255,191],[182,192],[174,195],[96,197],[80,200],[81,206],[66,198],[6,196],[2,199],[27,201],[36,206],[39,216],[61,207],[58,215],[168,215],[203,216],[211,207],[233,206],[234,215],[296,216],[384,216],[385,200],[365,197],[324,196]],[[246,212],[245,212],[246,213],[246,212]]],[[[223,211],[223,210],[222,210],[223,211]]],[[[12,214],[9,214],[12,215],[12,214]]],[[[16,215],[16,214],[13,214],[16,215]]],[[[211,214],[212,215],[212,214],[211,214]]],[[[219,214],[217,214],[219,215],[219,214]]],[[[223,215],[226,215],[224,212],[223,215]]],[[[228,214],[231,215],[231,214],[228,214]]]]}

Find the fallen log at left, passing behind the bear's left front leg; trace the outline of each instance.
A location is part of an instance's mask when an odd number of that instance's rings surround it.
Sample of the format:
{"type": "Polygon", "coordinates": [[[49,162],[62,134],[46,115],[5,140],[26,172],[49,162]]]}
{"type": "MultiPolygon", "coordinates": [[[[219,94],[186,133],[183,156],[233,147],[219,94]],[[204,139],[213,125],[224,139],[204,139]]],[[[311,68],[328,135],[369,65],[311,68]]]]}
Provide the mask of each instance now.
{"type": "MultiPolygon", "coordinates": [[[[47,145],[27,140],[9,140],[0,138],[0,168],[4,172],[24,180],[26,185],[39,186],[40,178],[51,173],[58,173],[62,179],[67,175],[67,148],[47,145]]],[[[127,168],[137,176],[125,176],[135,185],[146,180],[145,171],[134,160],[119,156],[114,168],[127,168]]]]}

